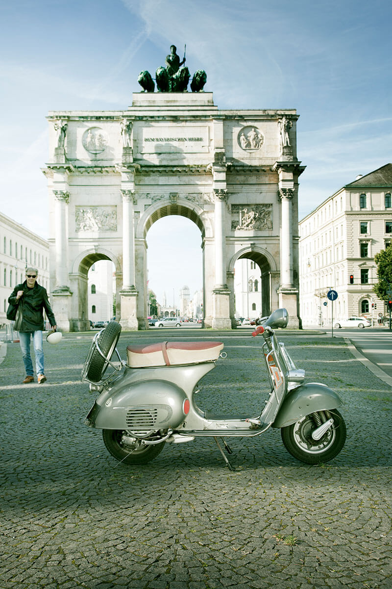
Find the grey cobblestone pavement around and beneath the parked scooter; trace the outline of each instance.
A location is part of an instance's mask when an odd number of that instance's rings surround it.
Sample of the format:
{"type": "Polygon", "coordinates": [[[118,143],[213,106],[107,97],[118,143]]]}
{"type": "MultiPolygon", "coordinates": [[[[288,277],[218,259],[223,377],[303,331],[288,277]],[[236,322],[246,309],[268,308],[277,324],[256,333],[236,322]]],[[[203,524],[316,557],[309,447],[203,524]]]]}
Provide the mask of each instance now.
{"type": "MultiPolygon", "coordinates": [[[[263,405],[261,338],[123,333],[122,355],[142,337],[222,340],[228,357],[203,379],[199,406],[256,413],[263,405]]],[[[101,432],[83,425],[93,395],[79,378],[91,339],[45,342],[45,385],[21,384],[19,345],[7,346],[1,589],[392,587],[392,391],[343,339],[280,336],[308,382],[343,397],[340,455],[323,466],[301,464],[271,430],[230,440],[235,472],[209,438],[166,444],[146,466],[118,464],[101,432]]]]}

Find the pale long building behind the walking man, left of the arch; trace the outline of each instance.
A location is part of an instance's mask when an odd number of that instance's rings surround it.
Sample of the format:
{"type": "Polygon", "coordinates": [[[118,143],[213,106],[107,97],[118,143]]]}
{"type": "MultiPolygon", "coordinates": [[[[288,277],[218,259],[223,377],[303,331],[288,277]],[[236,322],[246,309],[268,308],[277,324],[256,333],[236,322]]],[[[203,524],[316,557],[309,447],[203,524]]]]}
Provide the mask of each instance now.
{"type": "Polygon", "coordinates": [[[49,293],[49,243],[0,213],[0,323],[8,323],[8,297],[25,281],[26,267],[38,269],[38,283],[49,293]]]}

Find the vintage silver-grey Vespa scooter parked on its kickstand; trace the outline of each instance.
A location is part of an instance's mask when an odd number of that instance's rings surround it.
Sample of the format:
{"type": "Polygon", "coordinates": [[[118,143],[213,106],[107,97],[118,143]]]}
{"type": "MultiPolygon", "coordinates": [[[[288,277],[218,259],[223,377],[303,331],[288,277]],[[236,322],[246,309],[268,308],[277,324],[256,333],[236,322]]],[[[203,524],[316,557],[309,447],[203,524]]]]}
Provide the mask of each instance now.
{"type": "Polygon", "coordinates": [[[258,436],[270,427],[281,428],[284,446],[300,461],[320,464],[333,459],[346,440],[346,425],[336,409],[342,401],[321,383],[304,383],[304,370],[296,368],[274,333],[287,322],[286,309],[256,322],[261,325],[252,335],[264,339],[270,391],[260,414],[243,418],[214,416],[195,402],[199,380],[215,368],[219,356],[226,357],[223,343],[132,345],[124,362],[116,348],[121,326],[110,322],[94,337],[82,370],[82,380],[99,393],[86,425],[102,429],[110,454],[126,464],[146,464],[158,456],[165,442],[180,444],[212,436],[234,470],[226,456],[232,451],[223,436],[258,436]],[[112,360],[114,354],[118,362],[112,360]],[[104,378],[109,366],[113,370],[104,378]]]}

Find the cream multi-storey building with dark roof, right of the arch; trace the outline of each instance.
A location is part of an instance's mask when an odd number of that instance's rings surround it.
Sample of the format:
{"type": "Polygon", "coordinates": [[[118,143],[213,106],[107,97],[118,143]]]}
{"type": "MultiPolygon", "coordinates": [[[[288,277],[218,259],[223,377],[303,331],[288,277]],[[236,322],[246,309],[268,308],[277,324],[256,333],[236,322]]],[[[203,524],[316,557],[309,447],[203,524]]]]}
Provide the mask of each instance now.
{"type": "Polygon", "coordinates": [[[392,239],[392,164],[359,176],[299,223],[300,313],[304,325],[386,314],[376,297],[374,256],[392,239]],[[332,303],[328,290],[336,290],[332,303]],[[327,303],[326,305],[324,303],[327,303]]]}

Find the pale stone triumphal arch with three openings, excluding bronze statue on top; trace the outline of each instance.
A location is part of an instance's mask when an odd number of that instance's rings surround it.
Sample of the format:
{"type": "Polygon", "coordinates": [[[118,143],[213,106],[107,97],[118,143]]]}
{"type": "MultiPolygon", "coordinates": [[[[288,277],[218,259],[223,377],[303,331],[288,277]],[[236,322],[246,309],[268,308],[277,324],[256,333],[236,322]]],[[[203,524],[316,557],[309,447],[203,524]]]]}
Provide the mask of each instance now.
{"type": "Polygon", "coordinates": [[[202,236],[206,327],[236,325],[240,258],[260,267],[263,315],[286,307],[298,327],[297,118],[219,110],[200,88],[136,92],[121,111],[49,112],[43,172],[58,325],[89,329],[88,271],[103,259],[115,265],[123,329],[147,329],[146,236],[160,218],[182,215],[202,236]]]}

